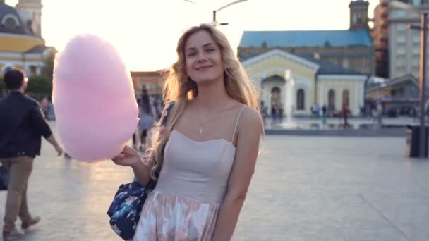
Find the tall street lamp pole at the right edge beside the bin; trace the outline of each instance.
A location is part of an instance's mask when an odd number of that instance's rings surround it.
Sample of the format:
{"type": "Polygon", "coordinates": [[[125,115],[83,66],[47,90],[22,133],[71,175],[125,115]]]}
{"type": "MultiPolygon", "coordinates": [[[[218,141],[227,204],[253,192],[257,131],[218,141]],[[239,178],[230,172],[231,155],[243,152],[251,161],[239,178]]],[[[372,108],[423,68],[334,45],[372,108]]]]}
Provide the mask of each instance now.
{"type": "MultiPolygon", "coordinates": [[[[427,31],[428,31],[428,13],[429,13],[429,5],[425,0],[421,0],[421,6],[411,6],[409,4],[404,4],[401,1],[391,1],[391,6],[396,8],[401,8],[406,11],[413,11],[416,13],[420,13],[421,15],[421,26],[418,27],[420,30],[420,91],[419,91],[419,99],[420,99],[420,140],[419,140],[419,152],[418,157],[425,158],[425,149],[428,143],[426,140],[426,128],[425,128],[425,80],[426,80],[426,39],[427,39],[427,31]]],[[[411,26],[410,28],[415,28],[411,26]]]]}

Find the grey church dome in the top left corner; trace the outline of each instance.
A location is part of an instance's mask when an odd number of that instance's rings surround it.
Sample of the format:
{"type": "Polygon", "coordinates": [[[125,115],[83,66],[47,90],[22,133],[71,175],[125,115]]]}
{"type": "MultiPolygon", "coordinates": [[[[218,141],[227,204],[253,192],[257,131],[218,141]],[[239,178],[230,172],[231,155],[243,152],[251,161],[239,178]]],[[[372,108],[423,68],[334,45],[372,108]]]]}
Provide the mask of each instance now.
{"type": "Polygon", "coordinates": [[[0,1],[0,33],[11,33],[17,35],[32,35],[31,23],[23,23],[15,8],[0,1]]]}

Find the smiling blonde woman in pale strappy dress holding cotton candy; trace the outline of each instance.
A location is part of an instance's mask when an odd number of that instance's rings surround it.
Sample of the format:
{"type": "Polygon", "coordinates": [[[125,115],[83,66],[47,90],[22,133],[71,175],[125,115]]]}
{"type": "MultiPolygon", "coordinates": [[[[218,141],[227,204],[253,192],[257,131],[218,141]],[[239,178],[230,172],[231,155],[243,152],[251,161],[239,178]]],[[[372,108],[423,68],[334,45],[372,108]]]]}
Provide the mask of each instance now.
{"type": "Polygon", "coordinates": [[[175,104],[152,161],[129,147],[114,158],[143,185],[161,170],[133,240],[231,240],[258,156],[258,92],[212,25],[183,33],[176,51],[164,88],[175,104]]]}

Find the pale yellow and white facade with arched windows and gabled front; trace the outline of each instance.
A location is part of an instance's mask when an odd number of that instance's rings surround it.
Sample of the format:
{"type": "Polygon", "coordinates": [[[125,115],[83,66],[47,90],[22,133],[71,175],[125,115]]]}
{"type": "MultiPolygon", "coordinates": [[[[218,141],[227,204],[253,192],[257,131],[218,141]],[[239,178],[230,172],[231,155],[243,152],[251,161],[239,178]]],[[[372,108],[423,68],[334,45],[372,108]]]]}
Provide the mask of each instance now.
{"type": "Polygon", "coordinates": [[[291,110],[293,116],[308,116],[313,105],[326,105],[330,113],[349,106],[358,115],[364,104],[363,75],[317,58],[272,49],[242,61],[250,80],[261,89],[268,113],[273,106],[291,110]]]}

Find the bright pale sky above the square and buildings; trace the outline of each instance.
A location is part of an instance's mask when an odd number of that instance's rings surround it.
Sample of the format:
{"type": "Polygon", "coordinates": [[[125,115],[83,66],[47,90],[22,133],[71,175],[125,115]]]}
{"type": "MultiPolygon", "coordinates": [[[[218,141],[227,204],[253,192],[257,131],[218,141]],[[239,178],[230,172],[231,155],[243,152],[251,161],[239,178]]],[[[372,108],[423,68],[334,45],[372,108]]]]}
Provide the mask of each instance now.
{"type": "MultiPolygon", "coordinates": [[[[234,0],[42,0],[42,37],[58,51],[81,33],[114,44],[128,69],[150,71],[176,61],[176,44],[188,27],[212,21],[212,10],[234,0]]],[[[15,6],[18,0],[6,0],[15,6]]],[[[244,30],[345,30],[349,0],[248,0],[217,12],[236,50],[244,30]]],[[[378,0],[369,0],[368,14],[378,0]]]]}

